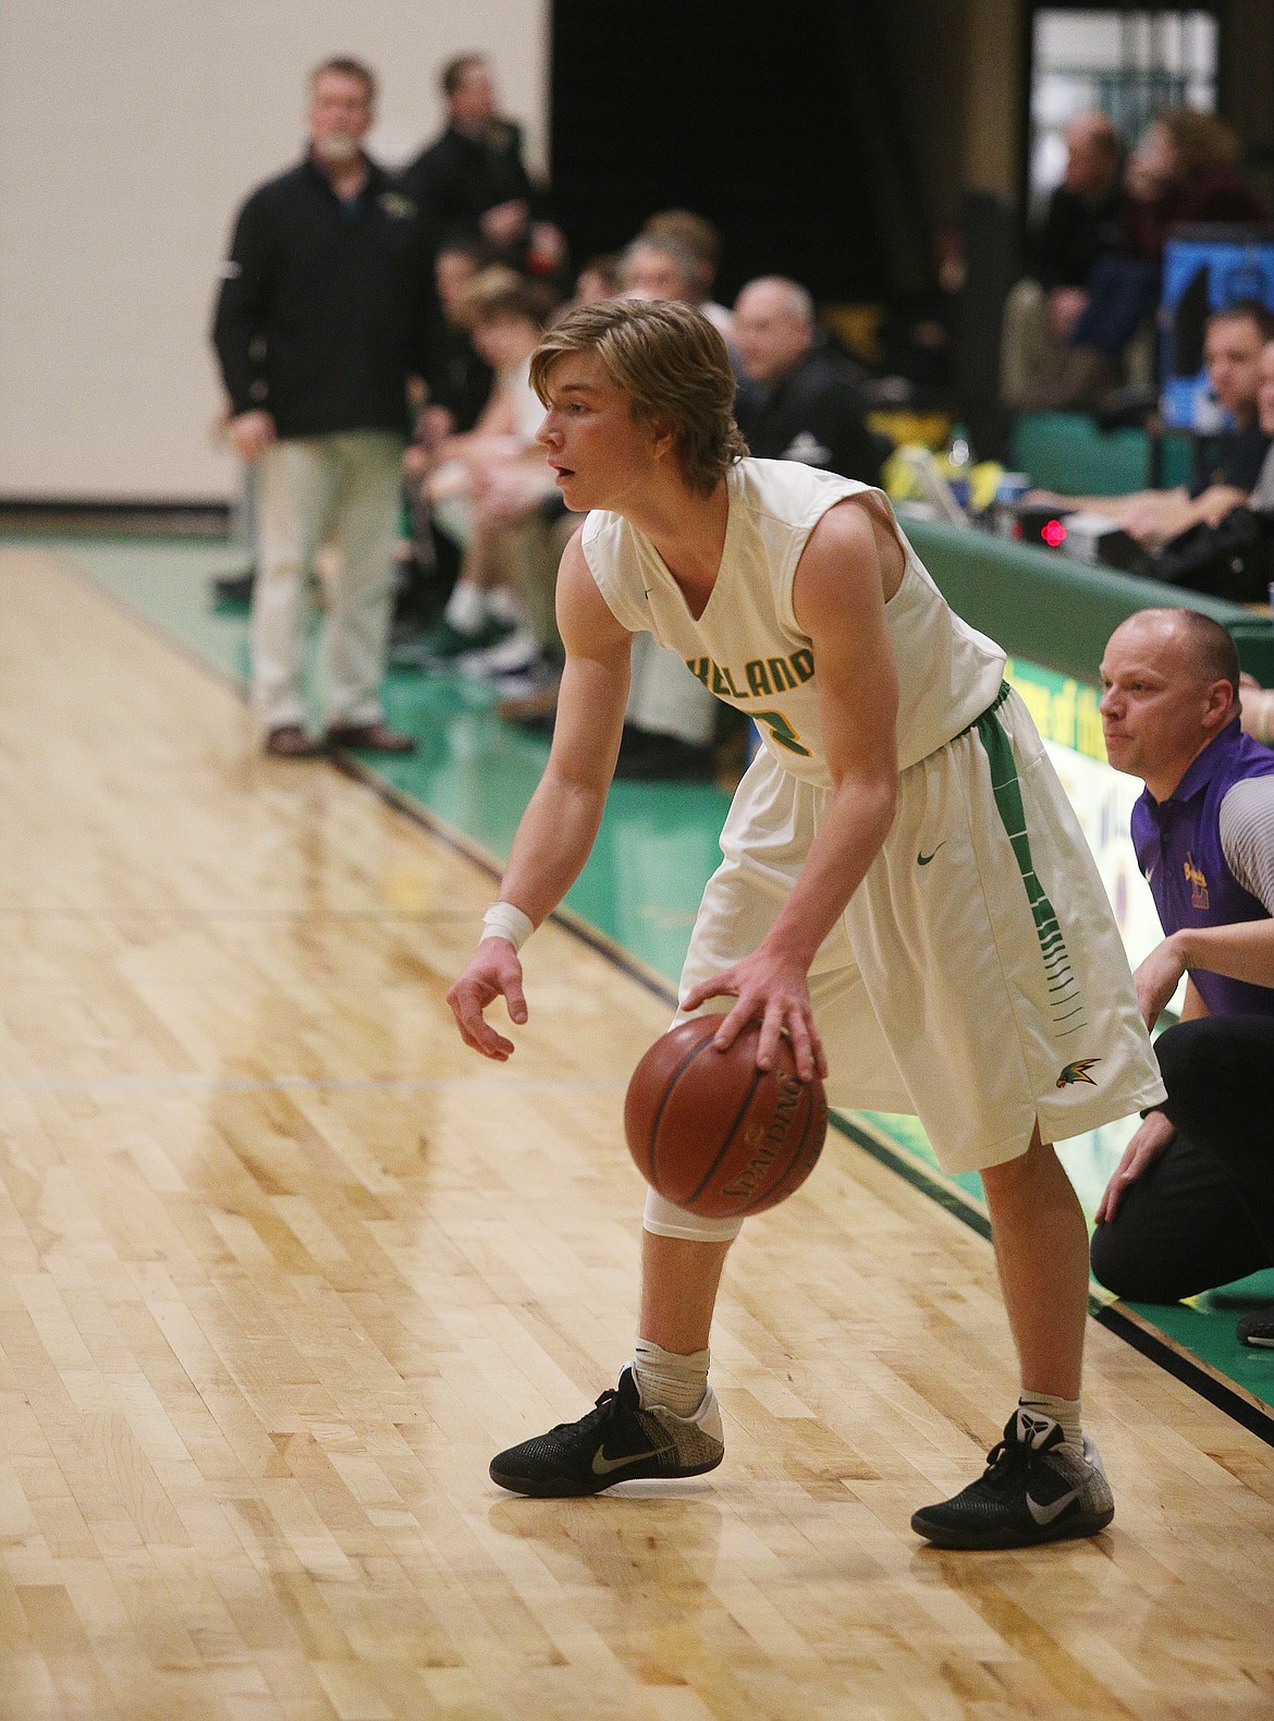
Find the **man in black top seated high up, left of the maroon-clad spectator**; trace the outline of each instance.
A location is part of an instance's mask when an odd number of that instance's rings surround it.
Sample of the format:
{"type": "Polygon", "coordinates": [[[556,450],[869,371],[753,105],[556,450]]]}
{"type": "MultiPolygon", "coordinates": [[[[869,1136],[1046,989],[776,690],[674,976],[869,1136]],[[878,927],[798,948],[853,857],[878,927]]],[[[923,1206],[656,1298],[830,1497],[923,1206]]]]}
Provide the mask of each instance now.
{"type": "Polygon", "coordinates": [[[1078,114],[1066,127],[1066,174],[1026,243],[1028,275],[1004,306],[1001,391],[1009,406],[1061,372],[1093,263],[1118,241],[1119,201],[1119,133],[1106,114],[1078,114]]]}

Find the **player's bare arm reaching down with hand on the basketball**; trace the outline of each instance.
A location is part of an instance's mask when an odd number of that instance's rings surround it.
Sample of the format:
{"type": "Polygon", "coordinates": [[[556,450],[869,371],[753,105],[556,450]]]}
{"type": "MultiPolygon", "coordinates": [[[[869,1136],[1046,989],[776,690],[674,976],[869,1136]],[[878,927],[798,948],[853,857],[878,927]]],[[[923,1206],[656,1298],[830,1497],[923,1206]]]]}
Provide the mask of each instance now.
{"type": "Polygon", "coordinates": [[[892,530],[858,499],[839,503],[810,534],[793,606],[817,666],[818,721],[832,776],[827,809],[765,943],[684,1000],[686,1009],[696,1009],[712,996],[738,996],[717,1043],[731,1045],[746,1022],[760,1019],[758,1065],[770,1067],[779,1036],[787,1033],[806,1081],[815,1070],[827,1074],[810,1005],[810,964],[894,819],[897,671],[885,601],[897,590],[903,566],[892,530]]]}

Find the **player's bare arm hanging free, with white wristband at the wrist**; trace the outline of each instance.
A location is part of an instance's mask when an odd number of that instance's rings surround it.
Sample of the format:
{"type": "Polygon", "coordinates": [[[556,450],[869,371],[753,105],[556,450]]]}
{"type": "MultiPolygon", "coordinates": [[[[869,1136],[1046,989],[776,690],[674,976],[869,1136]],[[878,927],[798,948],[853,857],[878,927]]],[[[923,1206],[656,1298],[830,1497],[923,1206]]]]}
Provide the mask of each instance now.
{"type": "MultiPolygon", "coordinates": [[[[538,926],[562,900],[588,859],[602,823],[619,756],[628,702],[631,633],[616,621],[573,539],[557,575],[557,623],[566,669],[557,700],[554,745],[540,785],[514,836],[500,883],[500,902],[538,926]]],[[[523,967],[505,938],[483,938],[447,993],[461,1039],[504,1062],[512,1041],[483,1012],[504,998],[514,1022],[526,1021],[523,967]]]]}

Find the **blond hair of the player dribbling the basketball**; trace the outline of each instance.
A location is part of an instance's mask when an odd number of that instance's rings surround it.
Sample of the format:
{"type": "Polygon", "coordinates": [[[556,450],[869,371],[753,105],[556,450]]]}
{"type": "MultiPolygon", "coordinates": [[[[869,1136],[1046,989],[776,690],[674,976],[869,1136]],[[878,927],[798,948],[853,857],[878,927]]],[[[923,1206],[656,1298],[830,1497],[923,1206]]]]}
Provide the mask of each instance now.
{"type": "Polygon", "coordinates": [[[638,422],[667,427],[686,487],[712,496],[748,444],[734,423],[734,372],[707,317],[674,299],[603,299],[567,312],[531,355],[531,387],[567,353],[597,353],[638,422]]]}

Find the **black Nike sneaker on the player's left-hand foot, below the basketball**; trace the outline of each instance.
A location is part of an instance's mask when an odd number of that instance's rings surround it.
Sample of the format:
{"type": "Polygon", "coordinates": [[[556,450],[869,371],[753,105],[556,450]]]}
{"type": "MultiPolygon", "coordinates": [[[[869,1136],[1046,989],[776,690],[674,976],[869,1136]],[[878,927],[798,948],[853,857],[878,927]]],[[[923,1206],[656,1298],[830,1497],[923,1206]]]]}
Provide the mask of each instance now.
{"type": "Polygon", "coordinates": [[[555,1499],[600,1494],[616,1482],[701,1477],[726,1456],[717,1397],[708,1387],[691,1416],[652,1404],[641,1408],[628,1366],[579,1422],[562,1422],[492,1459],[492,1482],[512,1494],[555,1499]]]}

